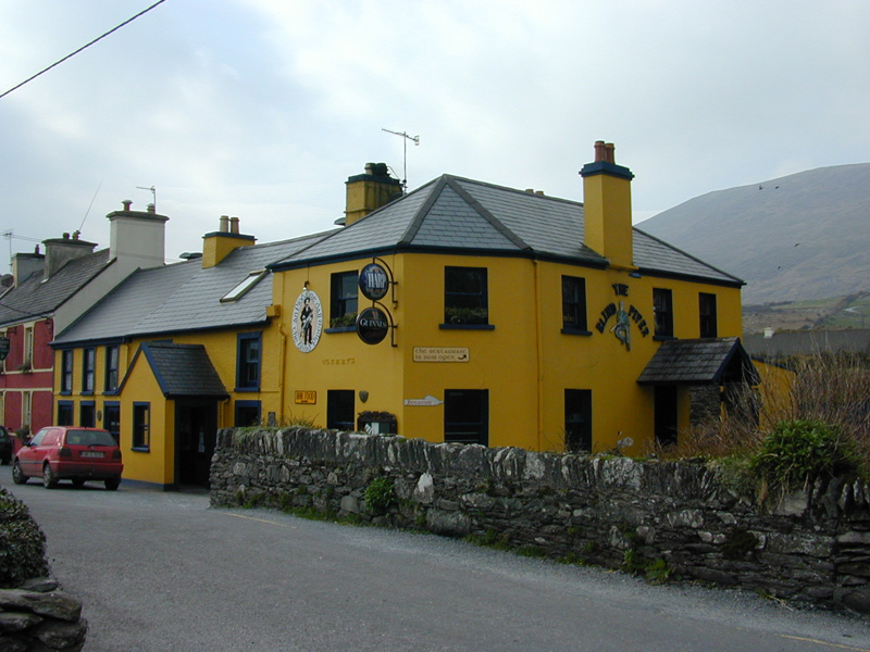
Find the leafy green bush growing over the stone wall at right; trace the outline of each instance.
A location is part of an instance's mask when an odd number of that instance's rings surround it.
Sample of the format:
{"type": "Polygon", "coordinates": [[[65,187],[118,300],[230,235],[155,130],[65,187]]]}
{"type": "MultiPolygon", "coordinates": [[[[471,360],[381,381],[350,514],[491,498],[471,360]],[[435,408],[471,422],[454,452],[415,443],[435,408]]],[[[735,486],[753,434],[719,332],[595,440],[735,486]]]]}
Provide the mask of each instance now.
{"type": "Polygon", "coordinates": [[[840,426],[794,419],[778,423],[762,439],[750,468],[770,487],[793,491],[818,478],[858,473],[861,459],[840,426]]]}

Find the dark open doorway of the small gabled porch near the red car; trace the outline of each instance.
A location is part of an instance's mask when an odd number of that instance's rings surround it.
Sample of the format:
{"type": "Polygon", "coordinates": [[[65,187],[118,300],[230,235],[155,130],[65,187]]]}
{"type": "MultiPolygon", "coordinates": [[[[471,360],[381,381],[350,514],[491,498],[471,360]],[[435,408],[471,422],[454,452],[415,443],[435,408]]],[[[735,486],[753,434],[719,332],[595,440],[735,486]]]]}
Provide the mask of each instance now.
{"type": "Polygon", "coordinates": [[[177,401],[175,404],[175,481],[209,486],[211,457],[217,436],[216,401],[177,401]]]}

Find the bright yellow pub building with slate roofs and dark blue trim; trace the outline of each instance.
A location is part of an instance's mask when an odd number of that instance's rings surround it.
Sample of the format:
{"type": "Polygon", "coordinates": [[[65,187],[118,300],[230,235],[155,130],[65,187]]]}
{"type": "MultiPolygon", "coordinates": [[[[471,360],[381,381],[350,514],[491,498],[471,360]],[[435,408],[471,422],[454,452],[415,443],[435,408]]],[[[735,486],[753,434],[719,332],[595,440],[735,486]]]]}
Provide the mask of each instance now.
{"type": "Polygon", "coordinates": [[[59,368],[117,378],[94,396],[74,381],[59,418],[100,403],[125,479],[163,486],[204,482],[215,427],[254,422],[532,450],[672,442],[725,386],[757,383],[743,283],[632,227],[612,146],[581,175],[585,205],[449,175],[402,195],[370,164],[339,228],[254,244],[224,221],[201,258],[133,275],[57,337],[59,368]]]}

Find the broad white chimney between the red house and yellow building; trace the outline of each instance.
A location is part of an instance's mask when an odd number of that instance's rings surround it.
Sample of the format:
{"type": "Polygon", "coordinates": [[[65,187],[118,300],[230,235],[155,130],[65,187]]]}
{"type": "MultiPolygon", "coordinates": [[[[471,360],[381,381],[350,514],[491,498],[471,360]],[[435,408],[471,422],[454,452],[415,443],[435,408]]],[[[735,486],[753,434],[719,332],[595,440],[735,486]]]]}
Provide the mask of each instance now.
{"type": "Polygon", "coordinates": [[[126,261],[133,268],[160,267],[165,260],[166,222],[152,204],[145,211],[134,211],[125,199],[121,211],[109,213],[109,258],[126,261]]]}

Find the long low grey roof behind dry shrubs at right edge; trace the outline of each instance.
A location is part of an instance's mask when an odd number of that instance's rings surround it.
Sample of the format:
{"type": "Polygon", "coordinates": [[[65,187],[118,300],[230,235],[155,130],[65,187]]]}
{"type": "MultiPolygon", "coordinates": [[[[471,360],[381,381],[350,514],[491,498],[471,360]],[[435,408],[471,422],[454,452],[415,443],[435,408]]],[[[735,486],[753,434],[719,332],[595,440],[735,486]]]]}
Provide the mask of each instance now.
{"type": "Polygon", "coordinates": [[[861,353],[870,355],[870,328],[847,330],[797,330],[773,337],[744,335],[743,344],[753,356],[766,359],[817,353],[861,353]]]}

